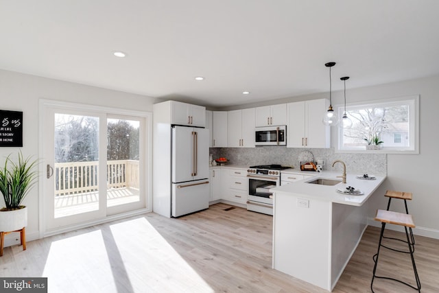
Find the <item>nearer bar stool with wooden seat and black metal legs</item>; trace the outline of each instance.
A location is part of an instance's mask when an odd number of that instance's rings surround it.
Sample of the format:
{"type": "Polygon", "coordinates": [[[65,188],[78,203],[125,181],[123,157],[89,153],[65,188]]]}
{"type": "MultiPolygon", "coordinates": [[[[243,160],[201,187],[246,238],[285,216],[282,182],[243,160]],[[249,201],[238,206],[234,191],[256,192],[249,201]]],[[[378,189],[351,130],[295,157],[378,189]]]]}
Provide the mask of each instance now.
{"type": "MultiPolygon", "coordinates": [[[[414,228],[415,227],[412,215],[407,214],[407,213],[397,213],[395,211],[384,211],[382,209],[379,209],[379,210],[377,210],[377,215],[375,215],[375,220],[381,222],[381,234],[379,235],[378,251],[373,256],[373,261],[375,262],[375,266],[373,267],[373,277],[372,277],[372,282],[370,282],[370,290],[372,290],[372,292],[374,292],[374,290],[372,288],[373,281],[375,278],[380,278],[380,279],[389,279],[389,280],[397,281],[399,283],[403,283],[404,285],[407,285],[410,288],[413,288],[414,290],[418,290],[418,292],[420,292],[420,281],[419,281],[419,276],[418,276],[418,270],[416,270],[416,263],[414,262],[414,256],[413,256],[414,250],[413,250],[412,244],[410,243],[409,232],[407,231],[407,228],[414,228]],[[407,237],[407,242],[405,242],[405,243],[407,243],[407,246],[409,248],[408,251],[396,250],[396,249],[389,248],[389,247],[381,244],[381,241],[383,239],[385,224],[387,224],[387,223],[404,226],[405,236],[407,237]],[[409,283],[405,283],[401,280],[398,280],[398,279],[377,276],[375,274],[375,272],[377,272],[379,250],[380,250],[381,246],[383,246],[384,248],[388,248],[388,249],[397,251],[399,253],[410,253],[410,257],[412,258],[414,278],[416,280],[416,287],[414,287],[413,285],[410,285],[409,283]]],[[[393,238],[391,238],[391,239],[393,239],[393,238]]],[[[396,239],[396,240],[399,240],[399,239],[396,239]]]]}

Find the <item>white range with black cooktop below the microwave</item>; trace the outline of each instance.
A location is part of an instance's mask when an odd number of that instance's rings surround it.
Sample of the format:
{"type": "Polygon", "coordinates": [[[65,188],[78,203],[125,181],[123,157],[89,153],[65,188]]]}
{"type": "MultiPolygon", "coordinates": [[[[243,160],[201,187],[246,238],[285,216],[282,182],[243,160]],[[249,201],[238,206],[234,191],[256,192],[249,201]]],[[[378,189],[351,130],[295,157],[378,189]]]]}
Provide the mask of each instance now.
{"type": "Polygon", "coordinates": [[[248,177],[248,211],[273,215],[273,198],[270,188],[281,185],[281,170],[290,167],[282,165],[251,166],[248,177]]]}

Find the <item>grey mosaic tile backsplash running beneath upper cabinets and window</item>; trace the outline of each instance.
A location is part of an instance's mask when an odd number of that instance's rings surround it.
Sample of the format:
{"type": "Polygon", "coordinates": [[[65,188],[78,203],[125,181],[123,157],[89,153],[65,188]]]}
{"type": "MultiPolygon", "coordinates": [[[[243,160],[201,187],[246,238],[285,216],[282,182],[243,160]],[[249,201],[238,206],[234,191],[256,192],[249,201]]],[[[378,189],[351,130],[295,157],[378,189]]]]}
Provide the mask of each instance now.
{"type": "Polygon", "coordinates": [[[346,163],[347,173],[356,174],[387,174],[386,154],[344,154],[335,153],[334,148],[286,148],[282,146],[264,146],[258,148],[211,148],[210,153],[213,159],[224,156],[233,165],[264,165],[280,164],[300,169],[298,156],[300,152],[307,150],[313,153],[314,161],[321,157],[325,161],[324,170],[342,171],[342,165],[336,164],[335,160],[342,160],[346,163]]]}

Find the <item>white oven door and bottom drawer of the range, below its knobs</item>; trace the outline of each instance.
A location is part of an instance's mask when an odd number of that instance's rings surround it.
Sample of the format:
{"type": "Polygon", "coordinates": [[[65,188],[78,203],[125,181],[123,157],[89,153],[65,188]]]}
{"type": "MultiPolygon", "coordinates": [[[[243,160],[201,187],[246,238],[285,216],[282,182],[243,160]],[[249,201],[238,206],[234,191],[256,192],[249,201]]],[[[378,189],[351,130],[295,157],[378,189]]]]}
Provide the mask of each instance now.
{"type": "Polygon", "coordinates": [[[269,189],[279,186],[279,178],[254,174],[248,174],[247,177],[247,209],[273,215],[273,198],[269,189]]]}

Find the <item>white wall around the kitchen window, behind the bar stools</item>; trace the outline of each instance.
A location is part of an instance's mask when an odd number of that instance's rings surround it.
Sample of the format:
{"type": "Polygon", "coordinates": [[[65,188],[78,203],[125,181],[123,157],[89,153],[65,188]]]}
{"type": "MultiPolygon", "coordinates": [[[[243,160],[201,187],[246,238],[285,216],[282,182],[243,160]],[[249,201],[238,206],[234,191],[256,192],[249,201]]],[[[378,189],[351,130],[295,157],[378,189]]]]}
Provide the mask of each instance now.
{"type": "MultiPolygon", "coordinates": [[[[373,218],[377,209],[385,209],[386,189],[412,192],[408,208],[416,224],[414,233],[439,239],[439,76],[347,90],[346,99],[359,102],[416,94],[420,95],[420,153],[388,154],[388,178],[370,200],[368,213],[373,218]]],[[[392,200],[392,209],[403,212],[403,202],[392,200]]]]}

